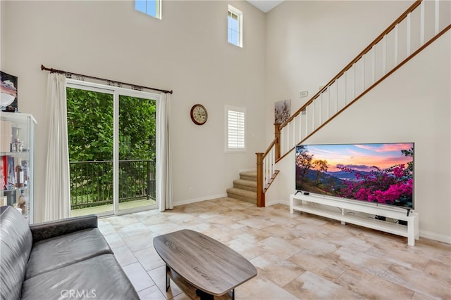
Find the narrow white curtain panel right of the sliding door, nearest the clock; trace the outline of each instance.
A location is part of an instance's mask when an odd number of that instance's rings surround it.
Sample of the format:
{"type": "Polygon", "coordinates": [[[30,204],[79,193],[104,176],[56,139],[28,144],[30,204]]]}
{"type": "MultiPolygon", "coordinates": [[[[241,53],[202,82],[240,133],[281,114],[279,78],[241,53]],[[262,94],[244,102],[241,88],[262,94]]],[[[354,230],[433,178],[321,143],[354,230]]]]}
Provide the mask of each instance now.
{"type": "Polygon", "coordinates": [[[168,93],[161,93],[156,117],[156,199],[160,211],[173,209],[171,171],[171,102],[168,93]]]}

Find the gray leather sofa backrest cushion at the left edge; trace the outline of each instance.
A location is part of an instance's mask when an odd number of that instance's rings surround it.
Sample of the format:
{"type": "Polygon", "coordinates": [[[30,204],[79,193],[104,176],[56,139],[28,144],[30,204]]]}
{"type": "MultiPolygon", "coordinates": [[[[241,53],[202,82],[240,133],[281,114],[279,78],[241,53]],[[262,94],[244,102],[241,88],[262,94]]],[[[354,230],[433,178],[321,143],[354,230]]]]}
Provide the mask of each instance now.
{"type": "Polygon", "coordinates": [[[0,299],[18,299],[32,235],[27,220],[13,207],[0,209],[0,299]]]}

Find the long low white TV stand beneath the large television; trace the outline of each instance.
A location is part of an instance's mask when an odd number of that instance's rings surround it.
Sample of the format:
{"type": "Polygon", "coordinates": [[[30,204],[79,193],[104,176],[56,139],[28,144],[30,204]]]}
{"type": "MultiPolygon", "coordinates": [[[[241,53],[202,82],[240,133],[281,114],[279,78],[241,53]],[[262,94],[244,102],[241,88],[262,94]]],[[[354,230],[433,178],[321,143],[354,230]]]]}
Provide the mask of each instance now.
{"type": "Polygon", "coordinates": [[[410,211],[409,216],[407,216],[407,211],[405,209],[386,207],[383,205],[378,206],[374,203],[361,203],[323,195],[304,195],[302,193],[297,193],[290,195],[290,213],[293,214],[295,210],[335,219],[341,221],[343,225],[345,225],[345,223],[352,223],[367,228],[385,231],[386,233],[393,233],[394,235],[401,235],[407,237],[407,244],[410,246],[414,246],[415,240],[419,239],[419,215],[410,211]],[[354,214],[355,212],[407,221],[407,226],[389,221],[372,219],[367,216],[357,216],[357,214],[354,214]]]}

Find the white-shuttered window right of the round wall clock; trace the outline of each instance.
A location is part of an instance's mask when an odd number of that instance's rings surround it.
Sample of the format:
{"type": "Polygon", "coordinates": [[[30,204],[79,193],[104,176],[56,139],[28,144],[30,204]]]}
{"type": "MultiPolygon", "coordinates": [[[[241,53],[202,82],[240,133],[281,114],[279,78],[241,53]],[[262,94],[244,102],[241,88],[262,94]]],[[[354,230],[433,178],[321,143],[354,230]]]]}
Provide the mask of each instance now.
{"type": "Polygon", "coordinates": [[[236,107],[236,106],[230,106],[226,105],[226,109],[224,110],[224,120],[225,120],[225,151],[226,152],[246,152],[247,147],[247,116],[246,116],[246,108],[245,107],[236,107]],[[240,124],[236,124],[236,126],[230,127],[230,119],[229,119],[229,112],[235,112],[237,114],[242,115],[242,122],[239,122],[240,124]],[[240,132],[237,132],[240,131],[240,132]],[[230,145],[229,143],[229,136],[235,135],[236,141],[235,145],[230,145]],[[242,143],[242,147],[240,147],[240,143],[242,143]]]}

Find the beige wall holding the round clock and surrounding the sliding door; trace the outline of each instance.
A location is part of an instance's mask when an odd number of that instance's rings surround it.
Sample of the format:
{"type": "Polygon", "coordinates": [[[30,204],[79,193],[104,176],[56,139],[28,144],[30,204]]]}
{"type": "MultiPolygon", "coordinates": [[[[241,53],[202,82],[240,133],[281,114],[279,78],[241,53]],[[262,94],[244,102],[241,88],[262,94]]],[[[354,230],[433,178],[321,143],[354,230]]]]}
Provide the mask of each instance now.
{"type": "Polygon", "coordinates": [[[40,65],[173,90],[175,205],[226,195],[264,145],[265,15],[245,15],[244,47],[227,42],[227,1],[163,1],[163,19],[134,1],[1,1],[1,70],[18,76],[18,106],[37,119],[35,207],[42,213],[47,72],[40,65]],[[204,126],[190,119],[202,103],[204,126]],[[224,105],[247,108],[247,153],[224,152],[224,105]],[[192,193],[189,193],[192,188],[192,193]]]}

